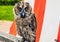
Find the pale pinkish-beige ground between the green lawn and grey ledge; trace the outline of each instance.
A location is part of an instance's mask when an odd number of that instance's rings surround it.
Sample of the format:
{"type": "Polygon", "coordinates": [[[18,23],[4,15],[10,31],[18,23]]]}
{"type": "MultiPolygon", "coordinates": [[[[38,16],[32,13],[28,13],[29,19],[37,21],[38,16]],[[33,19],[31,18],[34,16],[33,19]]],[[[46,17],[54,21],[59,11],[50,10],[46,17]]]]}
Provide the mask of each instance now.
{"type": "Polygon", "coordinates": [[[1,21],[0,20],[0,31],[2,32],[8,32],[10,27],[12,25],[11,21],[1,21]]]}

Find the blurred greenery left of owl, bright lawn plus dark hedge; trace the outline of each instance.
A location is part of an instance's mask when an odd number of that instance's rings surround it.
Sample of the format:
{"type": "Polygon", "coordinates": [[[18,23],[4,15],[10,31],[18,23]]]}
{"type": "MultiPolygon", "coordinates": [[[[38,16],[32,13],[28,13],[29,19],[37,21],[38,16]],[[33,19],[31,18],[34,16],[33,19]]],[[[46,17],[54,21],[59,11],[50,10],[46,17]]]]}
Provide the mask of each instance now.
{"type": "Polygon", "coordinates": [[[14,20],[13,7],[20,0],[0,0],[0,20],[14,20]]]}

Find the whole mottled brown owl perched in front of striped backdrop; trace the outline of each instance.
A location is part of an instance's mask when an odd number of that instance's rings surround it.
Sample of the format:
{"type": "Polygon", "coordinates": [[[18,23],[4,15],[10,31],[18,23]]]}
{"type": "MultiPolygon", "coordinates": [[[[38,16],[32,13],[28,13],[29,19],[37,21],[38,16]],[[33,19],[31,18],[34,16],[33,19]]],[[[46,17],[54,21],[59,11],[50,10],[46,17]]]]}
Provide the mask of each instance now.
{"type": "Polygon", "coordinates": [[[37,21],[32,7],[27,2],[18,2],[14,6],[17,34],[22,42],[35,42],[37,21]]]}

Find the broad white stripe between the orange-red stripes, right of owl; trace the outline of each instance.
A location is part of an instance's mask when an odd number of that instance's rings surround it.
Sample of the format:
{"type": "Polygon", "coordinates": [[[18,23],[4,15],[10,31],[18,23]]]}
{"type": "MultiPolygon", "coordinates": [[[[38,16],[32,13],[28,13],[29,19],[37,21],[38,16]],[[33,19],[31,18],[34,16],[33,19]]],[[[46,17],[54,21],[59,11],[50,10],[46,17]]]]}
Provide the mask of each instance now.
{"type": "Polygon", "coordinates": [[[55,42],[60,21],[60,0],[46,0],[46,10],[40,42],[55,42]]]}

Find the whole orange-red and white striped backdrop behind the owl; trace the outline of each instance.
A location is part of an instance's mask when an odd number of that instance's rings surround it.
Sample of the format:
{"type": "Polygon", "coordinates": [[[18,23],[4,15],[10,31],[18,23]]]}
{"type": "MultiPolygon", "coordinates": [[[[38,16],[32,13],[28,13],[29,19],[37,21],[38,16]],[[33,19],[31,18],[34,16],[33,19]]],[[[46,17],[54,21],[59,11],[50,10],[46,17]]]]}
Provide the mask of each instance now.
{"type": "MultiPolygon", "coordinates": [[[[60,40],[60,0],[24,1],[30,3],[37,18],[36,42],[55,42],[55,39],[60,40]]],[[[15,26],[14,21],[10,34],[16,35],[15,26]]]]}

